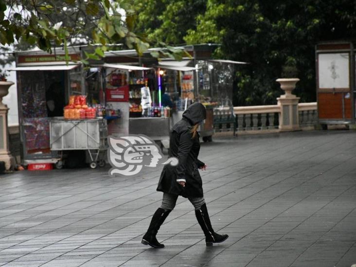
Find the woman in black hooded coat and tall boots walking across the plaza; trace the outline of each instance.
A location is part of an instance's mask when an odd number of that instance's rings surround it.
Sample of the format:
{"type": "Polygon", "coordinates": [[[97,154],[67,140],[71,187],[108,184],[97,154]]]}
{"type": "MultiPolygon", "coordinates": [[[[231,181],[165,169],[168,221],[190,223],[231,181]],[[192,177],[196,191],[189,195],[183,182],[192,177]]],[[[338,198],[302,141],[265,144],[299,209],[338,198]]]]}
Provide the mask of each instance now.
{"type": "Polygon", "coordinates": [[[167,164],[160,175],[157,191],[163,192],[160,208],[153,214],[147,232],[142,238],[142,244],[153,248],[164,248],[156,239],[156,234],[176,206],[178,196],[189,199],[196,212],[196,219],[205,234],[207,246],[221,243],[229,236],[215,233],[211,225],[208,210],[204,201],[202,181],[198,169],[207,167],[198,160],[200,150],[198,125],[206,118],[205,107],[194,103],[183,113],[183,118],[173,126],[170,136],[170,157],[179,160],[177,166],[167,164]]]}

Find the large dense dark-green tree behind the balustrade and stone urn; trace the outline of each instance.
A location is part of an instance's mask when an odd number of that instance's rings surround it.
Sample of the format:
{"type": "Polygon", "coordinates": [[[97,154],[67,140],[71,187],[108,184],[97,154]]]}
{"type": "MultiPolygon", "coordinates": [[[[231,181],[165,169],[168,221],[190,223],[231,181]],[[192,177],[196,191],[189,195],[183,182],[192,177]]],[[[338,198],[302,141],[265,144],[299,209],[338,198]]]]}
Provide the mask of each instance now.
{"type": "Polygon", "coordinates": [[[275,103],[275,79],[295,69],[296,93],[315,100],[315,44],[355,36],[356,5],[341,0],[208,0],[187,43],[220,42],[217,54],[247,61],[236,70],[234,105],[275,103]],[[284,68],[285,67],[285,68],[284,68]]]}

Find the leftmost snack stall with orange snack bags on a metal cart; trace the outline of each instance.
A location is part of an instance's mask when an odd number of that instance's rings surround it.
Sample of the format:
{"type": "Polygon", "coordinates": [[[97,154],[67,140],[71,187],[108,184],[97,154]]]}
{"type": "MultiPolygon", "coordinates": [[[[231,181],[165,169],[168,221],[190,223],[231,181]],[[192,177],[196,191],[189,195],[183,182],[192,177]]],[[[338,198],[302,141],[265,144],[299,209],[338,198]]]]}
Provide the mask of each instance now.
{"type": "MultiPolygon", "coordinates": [[[[71,146],[68,136],[78,129],[87,131],[89,135],[92,124],[79,121],[95,121],[97,116],[105,120],[105,115],[113,111],[107,109],[105,113],[101,73],[96,68],[85,69],[79,63],[85,49],[87,47],[70,47],[68,64],[61,48],[53,49],[53,54],[40,50],[15,53],[16,68],[12,71],[17,71],[21,159],[24,165],[41,169],[52,168],[52,163],[55,163],[57,168],[61,168],[65,158],[73,161],[83,158],[78,157],[78,153],[86,150],[83,148],[86,146],[71,146]],[[69,125],[74,125],[74,128],[69,125]],[[84,129],[83,125],[88,127],[84,129]]],[[[115,115],[119,118],[119,114],[115,115]]],[[[106,120],[96,125],[96,130],[105,134],[106,120]]],[[[99,143],[102,149],[105,145],[99,143]]],[[[92,158],[89,152],[86,155],[88,162],[102,160],[92,158]]]]}

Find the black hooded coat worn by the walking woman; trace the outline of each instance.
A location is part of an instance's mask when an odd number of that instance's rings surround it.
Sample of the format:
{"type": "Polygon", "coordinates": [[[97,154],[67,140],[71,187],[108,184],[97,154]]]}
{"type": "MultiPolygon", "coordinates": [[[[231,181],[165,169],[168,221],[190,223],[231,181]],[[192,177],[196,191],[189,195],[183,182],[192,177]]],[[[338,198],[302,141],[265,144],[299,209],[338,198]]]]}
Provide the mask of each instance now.
{"type": "Polygon", "coordinates": [[[178,158],[179,163],[177,166],[167,164],[163,167],[157,191],[184,197],[203,196],[198,168],[205,164],[198,160],[199,134],[193,138],[190,130],[205,118],[205,107],[200,103],[194,103],[183,112],[183,118],[172,127],[169,156],[178,158]],[[185,179],[185,187],[178,184],[177,179],[185,179]]]}

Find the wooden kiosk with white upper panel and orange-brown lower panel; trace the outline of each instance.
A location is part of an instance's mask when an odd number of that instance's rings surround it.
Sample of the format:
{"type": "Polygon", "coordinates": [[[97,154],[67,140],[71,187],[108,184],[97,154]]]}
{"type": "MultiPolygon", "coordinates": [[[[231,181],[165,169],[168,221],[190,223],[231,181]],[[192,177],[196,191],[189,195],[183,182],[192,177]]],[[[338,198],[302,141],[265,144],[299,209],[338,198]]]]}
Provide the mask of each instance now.
{"type": "Polygon", "coordinates": [[[354,44],[321,42],[315,55],[319,124],[355,124],[354,44]]]}

